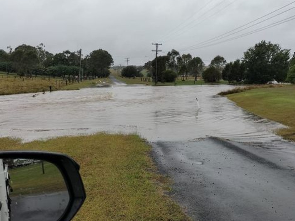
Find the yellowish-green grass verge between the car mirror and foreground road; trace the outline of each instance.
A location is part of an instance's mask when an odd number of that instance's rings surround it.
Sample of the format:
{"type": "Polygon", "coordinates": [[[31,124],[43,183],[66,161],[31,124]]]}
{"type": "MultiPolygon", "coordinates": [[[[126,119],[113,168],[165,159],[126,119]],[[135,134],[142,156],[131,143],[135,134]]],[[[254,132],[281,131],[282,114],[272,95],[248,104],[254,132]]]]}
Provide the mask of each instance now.
{"type": "Polygon", "coordinates": [[[151,147],[136,135],[97,134],[19,143],[0,139],[1,150],[47,150],[73,157],[87,199],[74,220],[190,220],[164,194],[169,179],[159,175],[151,147]]]}

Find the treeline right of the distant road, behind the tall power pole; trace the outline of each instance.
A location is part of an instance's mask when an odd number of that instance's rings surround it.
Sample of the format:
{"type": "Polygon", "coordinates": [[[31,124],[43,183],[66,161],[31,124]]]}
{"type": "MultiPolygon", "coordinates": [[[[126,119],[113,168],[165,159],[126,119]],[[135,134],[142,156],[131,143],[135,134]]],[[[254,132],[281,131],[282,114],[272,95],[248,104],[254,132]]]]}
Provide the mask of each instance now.
{"type": "Polygon", "coordinates": [[[181,77],[185,81],[188,76],[202,77],[206,82],[227,80],[230,83],[265,84],[268,81],[295,83],[295,53],[290,58],[290,50],[281,49],[280,45],[261,41],[249,48],[242,59],[227,61],[217,55],[205,66],[200,57],[193,58],[171,50],[165,56],[158,57],[157,79],[155,75],[156,60],[145,63],[153,81],[175,81],[181,77]],[[173,76],[173,78],[171,77],[173,76]]]}

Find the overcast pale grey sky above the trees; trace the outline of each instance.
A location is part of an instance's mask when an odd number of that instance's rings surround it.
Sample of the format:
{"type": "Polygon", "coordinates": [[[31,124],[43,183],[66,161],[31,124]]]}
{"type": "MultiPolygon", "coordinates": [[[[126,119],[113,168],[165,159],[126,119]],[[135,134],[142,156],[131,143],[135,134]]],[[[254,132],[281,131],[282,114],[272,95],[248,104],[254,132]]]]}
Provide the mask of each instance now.
{"type": "MultiPolygon", "coordinates": [[[[51,53],[64,50],[76,51],[82,48],[83,55],[102,48],[112,55],[115,65],[119,63],[125,65],[124,58],[127,57],[130,58],[132,65],[143,65],[146,61],[152,60],[155,56],[151,51],[155,50],[155,46],[151,45],[152,42],[163,44],[159,47],[163,50],[160,55],[174,48],[181,54],[190,53],[194,57],[199,56],[205,63],[209,63],[216,55],[224,56],[227,61],[241,58],[249,47],[261,40],[278,43],[282,48],[291,49],[293,53],[295,20],[222,44],[195,49],[191,47],[292,2],[292,0],[1,0],[0,48],[7,51],[8,45],[15,48],[21,44],[36,46],[42,42],[45,49],[51,53]]],[[[295,2],[248,26],[290,9],[288,12],[212,43],[294,16],[295,8],[291,9],[293,7],[295,2]]]]}

